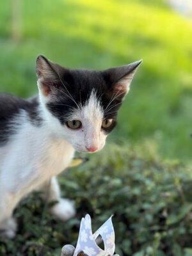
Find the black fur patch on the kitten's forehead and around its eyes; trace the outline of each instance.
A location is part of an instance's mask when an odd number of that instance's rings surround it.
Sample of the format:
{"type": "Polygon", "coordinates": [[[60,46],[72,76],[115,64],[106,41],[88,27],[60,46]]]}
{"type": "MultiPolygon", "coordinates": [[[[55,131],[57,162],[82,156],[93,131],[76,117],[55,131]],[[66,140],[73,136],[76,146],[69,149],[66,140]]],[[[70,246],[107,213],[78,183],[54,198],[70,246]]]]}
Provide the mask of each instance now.
{"type": "MultiPolygon", "coordinates": [[[[65,70],[60,74],[61,80],[54,86],[54,97],[47,104],[47,108],[56,116],[61,124],[67,122],[70,111],[78,106],[84,106],[92,91],[97,95],[100,105],[104,109],[105,118],[114,118],[120,108],[122,97],[117,97],[110,104],[111,92],[108,80],[101,71],[65,70]],[[106,109],[106,110],[105,110],[106,109]]],[[[114,95],[113,95],[114,96],[114,95]]],[[[111,127],[115,127],[116,122],[111,127]]],[[[111,130],[107,130],[108,132],[111,130]]]]}

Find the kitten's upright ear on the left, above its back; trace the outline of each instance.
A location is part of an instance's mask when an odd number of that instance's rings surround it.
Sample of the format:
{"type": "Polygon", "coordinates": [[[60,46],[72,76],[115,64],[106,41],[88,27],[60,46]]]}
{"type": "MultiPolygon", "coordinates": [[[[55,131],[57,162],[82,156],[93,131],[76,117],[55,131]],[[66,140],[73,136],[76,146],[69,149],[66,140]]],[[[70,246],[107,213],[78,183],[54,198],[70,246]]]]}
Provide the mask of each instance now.
{"type": "Polygon", "coordinates": [[[49,96],[60,83],[60,73],[62,67],[44,56],[40,55],[36,59],[36,76],[40,92],[49,96]]]}

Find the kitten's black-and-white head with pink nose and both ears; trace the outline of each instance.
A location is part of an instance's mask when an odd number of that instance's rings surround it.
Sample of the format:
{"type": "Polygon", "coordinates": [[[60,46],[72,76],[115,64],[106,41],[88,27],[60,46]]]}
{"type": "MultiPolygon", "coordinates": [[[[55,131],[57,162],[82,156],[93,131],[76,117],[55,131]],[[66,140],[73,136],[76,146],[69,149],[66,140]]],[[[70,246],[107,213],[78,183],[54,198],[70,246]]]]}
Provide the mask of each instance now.
{"type": "Polygon", "coordinates": [[[40,101],[51,129],[79,152],[102,149],[140,63],[103,71],[70,70],[38,56],[40,101]]]}

